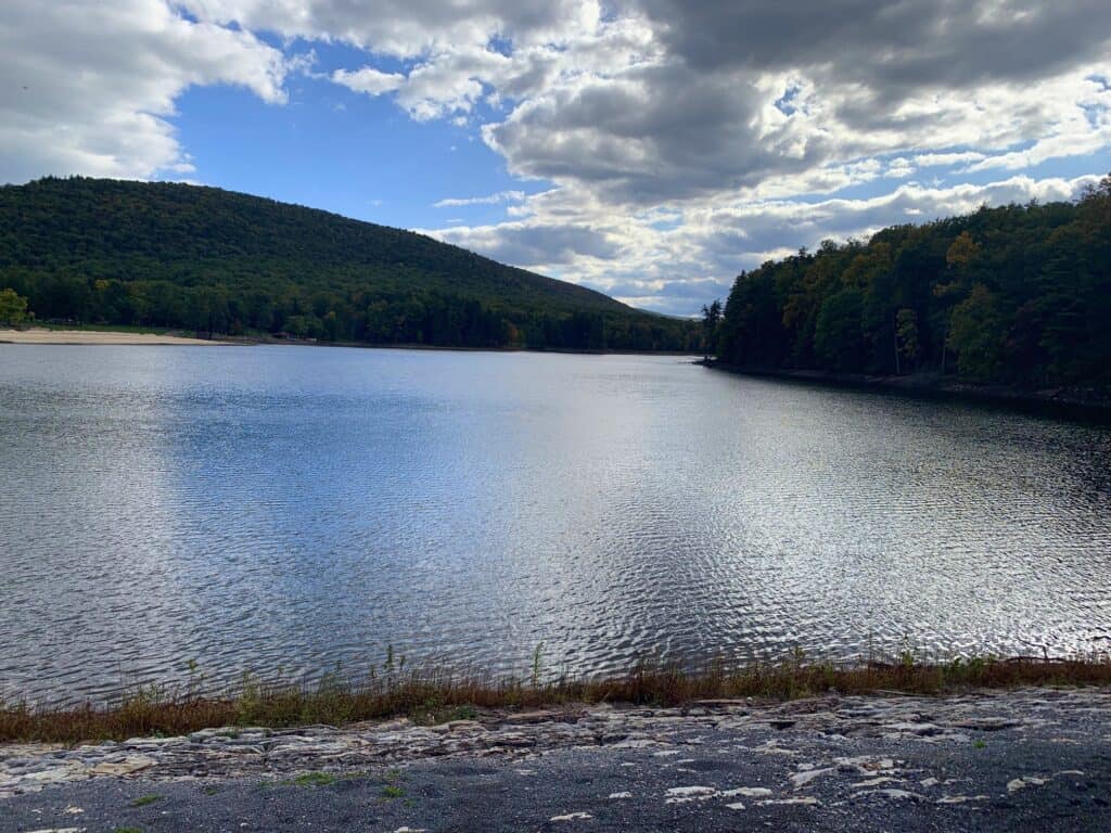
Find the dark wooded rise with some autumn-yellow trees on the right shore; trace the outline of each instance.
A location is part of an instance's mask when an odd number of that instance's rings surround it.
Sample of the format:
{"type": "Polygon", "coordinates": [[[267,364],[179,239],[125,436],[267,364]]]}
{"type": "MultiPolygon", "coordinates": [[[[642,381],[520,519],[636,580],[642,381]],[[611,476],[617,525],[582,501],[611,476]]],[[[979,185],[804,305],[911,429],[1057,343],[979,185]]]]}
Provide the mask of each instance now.
{"type": "Polygon", "coordinates": [[[823,243],[738,277],[728,363],[1111,385],[1111,177],[1075,203],[983,208],[823,243]]]}

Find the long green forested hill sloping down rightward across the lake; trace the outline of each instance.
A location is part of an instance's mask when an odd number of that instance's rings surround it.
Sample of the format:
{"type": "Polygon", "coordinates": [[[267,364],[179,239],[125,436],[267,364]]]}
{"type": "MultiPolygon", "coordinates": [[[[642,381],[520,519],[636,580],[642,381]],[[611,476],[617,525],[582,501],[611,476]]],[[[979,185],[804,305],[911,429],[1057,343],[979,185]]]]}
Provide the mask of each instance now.
{"type": "Polygon", "coordinates": [[[409,231],[177,183],[0,188],[0,290],[41,321],[444,347],[682,350],[684,321],[409,231]]]}

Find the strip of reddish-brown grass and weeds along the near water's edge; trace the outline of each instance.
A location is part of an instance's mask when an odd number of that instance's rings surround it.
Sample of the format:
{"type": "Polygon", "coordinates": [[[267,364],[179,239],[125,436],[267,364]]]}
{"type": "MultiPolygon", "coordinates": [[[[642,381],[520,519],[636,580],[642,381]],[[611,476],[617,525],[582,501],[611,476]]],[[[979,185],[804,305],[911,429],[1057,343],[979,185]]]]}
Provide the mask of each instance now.
{"type": "Polygon", "coordinates": [[[570,703],[674,706],[699,700],[791,700],[835,693],[943,694],[973,688],[1111,685],[1111,656],[1051,660],[971,659],[919,662],[909,654],[887,662],[811,662],[797,653],[779,663],[727,668],[721,661],[689,671],[678,664],[641,662],[613,678],[544,679],[539,649],[523,679],[454,673],[394,663],[356,679],[339,672],[316,685],[244,675],[224,694],[187,688],[171,692],[139,686],[117,705],[33,709],[0,703],[0,743],[126,740],[181,735],[220,726],[280,727],[404,716],[419,724],[472,719],[480,710],[536,709],[570,703]]]}

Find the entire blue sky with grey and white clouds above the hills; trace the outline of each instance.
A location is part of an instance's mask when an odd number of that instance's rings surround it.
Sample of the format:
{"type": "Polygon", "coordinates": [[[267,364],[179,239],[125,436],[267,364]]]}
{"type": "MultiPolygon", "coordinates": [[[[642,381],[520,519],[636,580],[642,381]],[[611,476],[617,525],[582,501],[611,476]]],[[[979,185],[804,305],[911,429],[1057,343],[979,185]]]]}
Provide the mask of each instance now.
{"type": "Polygon", "coordinates": [[[0,180],[219,185],[692,314],[1111,171],[1102,3],[9,0],[0,180]]]}

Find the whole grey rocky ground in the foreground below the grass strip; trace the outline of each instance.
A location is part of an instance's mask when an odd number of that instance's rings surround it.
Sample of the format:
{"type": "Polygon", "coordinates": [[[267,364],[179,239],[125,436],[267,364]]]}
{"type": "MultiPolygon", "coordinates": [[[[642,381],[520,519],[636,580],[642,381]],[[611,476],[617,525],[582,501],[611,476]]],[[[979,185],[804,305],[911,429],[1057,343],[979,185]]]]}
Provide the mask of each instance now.
{"type": "Polygon", "coordinates": [[[0,746],[9,831],[1111,831],[1111,690],[0,746]]]}

